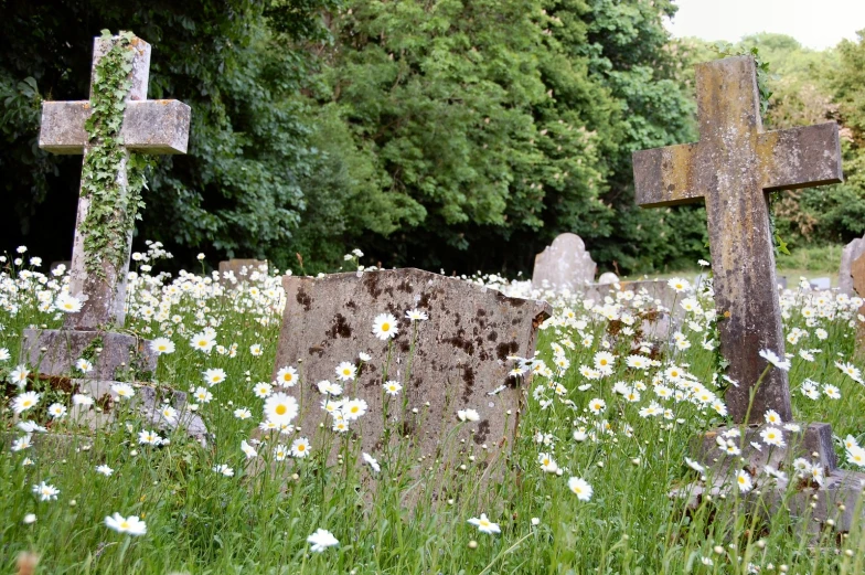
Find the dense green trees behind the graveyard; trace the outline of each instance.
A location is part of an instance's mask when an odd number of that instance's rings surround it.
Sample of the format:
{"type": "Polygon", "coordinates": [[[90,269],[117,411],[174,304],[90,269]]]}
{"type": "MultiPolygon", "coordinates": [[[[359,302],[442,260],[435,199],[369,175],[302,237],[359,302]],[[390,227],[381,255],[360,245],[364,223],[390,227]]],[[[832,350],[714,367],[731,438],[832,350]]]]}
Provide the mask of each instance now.
{"type": "MultiPolygon", "coordinates": [[[[0,238],[68,257],[81,158],[38,149],[40,105],[85,97],[107,28],[153,45],[149,97],[193,108],[190,153],[157,159],[138,227],[180,260],[318,271],[359,245],[387,266],[516,273],[570,231],[601,268],[693,264],[707,254],[702,207],[639,209],[630,163],[696,137],[692,64],[718,54],[671,41],[674,12],[671,0],[2,0],[0,169],[18,225],[0,238]]],[[[791,245],[861,234],[865,43],[813,52],[762,34],[737,49],[751,45],[778,74],[770,125],[844,124],[847,183],[783,194],[779,231],[791,245]]]]}

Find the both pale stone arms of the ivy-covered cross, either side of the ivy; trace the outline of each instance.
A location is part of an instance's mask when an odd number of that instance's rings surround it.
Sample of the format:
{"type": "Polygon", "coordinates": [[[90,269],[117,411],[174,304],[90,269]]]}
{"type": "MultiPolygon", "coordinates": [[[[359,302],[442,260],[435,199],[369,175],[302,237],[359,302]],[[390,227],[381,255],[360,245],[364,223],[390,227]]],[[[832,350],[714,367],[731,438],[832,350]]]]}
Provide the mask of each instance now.
{"type": "MultiPolygon", "coordinates": [[[[88,102],[45,102],[39,147],[53,153],[83,153],[88,102]]],[[[130,151],[186,153],[191,109],[174,99],[127,102],[120,137],[130,151]]]]}

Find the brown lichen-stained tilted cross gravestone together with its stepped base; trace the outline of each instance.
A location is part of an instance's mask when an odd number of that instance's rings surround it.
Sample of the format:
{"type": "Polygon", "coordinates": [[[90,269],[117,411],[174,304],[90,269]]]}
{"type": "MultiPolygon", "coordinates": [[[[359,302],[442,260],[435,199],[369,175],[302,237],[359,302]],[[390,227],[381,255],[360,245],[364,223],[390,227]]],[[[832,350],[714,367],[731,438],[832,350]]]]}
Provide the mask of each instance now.
{"type": "MultiPolygon", "coordinates": [[[[767,366],[759,351],[769,349],[780,356],[784,352],[767,192],[841,181],[837,125],[762,131],[751,56],[698,64],[696,82],[700,142],[636,152],[637,201],[659,206],[705,200],[715,304],[724,318],[720,351],[729,361],[728,374],[738,381],[726,394],[730,417],[736,424],[758,424],[768,409],[775,409],[790,422],[786,371],[770,369],[755,388],[767,366]],[[748,417],[750,394],[754,406],[748,417]]],[[[741,445],[751,445],[760,430],[756,425],[747,427],[741,445]]],[[[829,425],[802,426],[795,437],[784,432],[784,448],[746,448],[730,458],[718,449],[724,432],[711,432],[697,443],[697,458],[712,476],[709,485],[698,485],[697,491],[728,489],[733,471],[757,476],[767,454],[775,454],[778,461],[805,454],[825,470],[823,486],[809,485],[787,499],[786,481],[761,482],[767,500],[760,507],[771,511],[784,505],[794,515],[814,520],[837,518],[836,530],[851,529],[856,518],[850,510],[856,509],[865,473],[836,469],[829,425]],[[839,509],[844,513],[839,514],[839,509]]],[[[691,488],[679,491],[694,493],[691,488]]]]}

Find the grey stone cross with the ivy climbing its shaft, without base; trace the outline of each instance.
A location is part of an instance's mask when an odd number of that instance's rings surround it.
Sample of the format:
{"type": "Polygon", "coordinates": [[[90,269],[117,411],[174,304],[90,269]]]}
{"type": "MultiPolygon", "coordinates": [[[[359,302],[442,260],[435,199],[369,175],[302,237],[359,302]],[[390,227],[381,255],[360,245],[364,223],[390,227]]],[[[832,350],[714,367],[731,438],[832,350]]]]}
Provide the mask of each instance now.
{"type": "Polygon", "coordinates": [[[90,97],[45,102],[39,146],[54,153],[83,153],[82,185],[70,292],[83,307],[66,329],[124,324],[132,230],[141,205],[140,153],[186,153],[190,107],[147,99],[150,44],[130,32],[96,38],[90,97]]]}

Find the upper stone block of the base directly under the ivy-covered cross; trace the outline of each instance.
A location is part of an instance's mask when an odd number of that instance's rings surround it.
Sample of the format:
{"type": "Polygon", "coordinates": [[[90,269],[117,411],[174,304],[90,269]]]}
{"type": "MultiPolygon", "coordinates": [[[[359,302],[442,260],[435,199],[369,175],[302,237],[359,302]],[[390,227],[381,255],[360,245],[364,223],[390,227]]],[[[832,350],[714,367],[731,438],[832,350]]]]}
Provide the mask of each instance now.
{"type": "Polygon", "coordinates": [[[73,375],[75,362],[94,348],[94,380],[122,379],[120,374],[135,364],[138,374],[154,372],[157,354],[149,341],[113,331],[26,329],[21,344],[21,360],[45,375],[73,375]],[[102,343],[94,343],[102,339],[102,343]],[[98,351],[102,349],[102,351],[98,351]]]}

